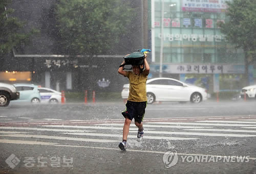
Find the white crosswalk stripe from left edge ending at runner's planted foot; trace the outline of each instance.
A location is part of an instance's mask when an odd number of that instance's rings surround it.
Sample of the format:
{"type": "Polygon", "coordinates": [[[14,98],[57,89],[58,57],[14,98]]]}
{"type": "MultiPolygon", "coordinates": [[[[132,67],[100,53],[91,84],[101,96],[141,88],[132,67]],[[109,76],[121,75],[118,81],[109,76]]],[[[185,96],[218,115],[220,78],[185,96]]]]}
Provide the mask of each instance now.
{"type": "Polygon", "coordinates": [[[60,136],[47,136],[47,135],[30,135],[30,134],[7,134],[1,135],[6,137],[24,137],[24,138],[44,138],[44,139],[57,139],[57,140],[70,140],[70,141],[86,141],[86,142],[120,142],[120,140],[106,140],[106,139],[90,139],[90,138],[73,138],[73,137],[60,137],[60,136]]]}

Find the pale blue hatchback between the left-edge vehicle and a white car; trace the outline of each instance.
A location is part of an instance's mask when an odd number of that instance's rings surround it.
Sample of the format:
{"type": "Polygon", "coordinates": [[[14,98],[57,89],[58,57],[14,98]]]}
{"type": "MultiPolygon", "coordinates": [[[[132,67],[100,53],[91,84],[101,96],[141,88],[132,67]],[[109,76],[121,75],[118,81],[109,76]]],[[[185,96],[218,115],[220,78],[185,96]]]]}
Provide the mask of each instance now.
{"type": "Polygon", "coordinates": [[[33,84],[13,84],[17,91],[19,92],[19,99],[15,102],[31,102],[31,103],[39,103],[40,102],[40,94],[38,91],[38,87],[33,84]]]}

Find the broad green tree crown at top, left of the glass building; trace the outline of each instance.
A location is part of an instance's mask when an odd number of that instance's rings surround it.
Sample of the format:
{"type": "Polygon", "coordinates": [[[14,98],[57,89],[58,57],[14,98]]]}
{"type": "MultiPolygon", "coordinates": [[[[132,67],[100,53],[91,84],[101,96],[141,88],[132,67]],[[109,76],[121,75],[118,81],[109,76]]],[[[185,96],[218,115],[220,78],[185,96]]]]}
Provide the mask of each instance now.
{"type": "Polygon", "coordinates": [[[70,55],[99,55],[121,40],[136,15],[129,2],[64,0],[55,9],[59,45],[70,55]]]}

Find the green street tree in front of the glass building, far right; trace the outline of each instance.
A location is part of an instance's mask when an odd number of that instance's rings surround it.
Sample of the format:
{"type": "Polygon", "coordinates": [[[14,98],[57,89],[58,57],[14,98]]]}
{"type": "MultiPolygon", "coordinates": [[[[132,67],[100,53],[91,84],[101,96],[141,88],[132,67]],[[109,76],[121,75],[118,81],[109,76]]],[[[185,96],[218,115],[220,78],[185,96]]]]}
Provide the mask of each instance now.
{"type": "Polygon", "coordinates": [[[256,1],[233,0],[226,2],[229,20],[218,23],[220,30],[225,34],[226,40],[234,44],[235,48],[244,51],[245,78],[249,85],[248,66],[253,63],[256,51],[256,1]]]}

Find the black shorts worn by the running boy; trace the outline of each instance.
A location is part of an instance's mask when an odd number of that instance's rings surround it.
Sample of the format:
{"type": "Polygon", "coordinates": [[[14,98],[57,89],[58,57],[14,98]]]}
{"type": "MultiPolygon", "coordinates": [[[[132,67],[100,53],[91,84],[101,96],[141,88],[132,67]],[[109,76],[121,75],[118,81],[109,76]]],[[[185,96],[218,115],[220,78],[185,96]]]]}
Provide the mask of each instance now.
{"type": "Polygon", "coordinates": [[[147,102],[131,102],[127,101],[125,104],[126,109],[122,112],[124,118],[129,118],[130,120],[134,120],[138,123],[143,121],[143,117],[145,114],[147,102]]]}

